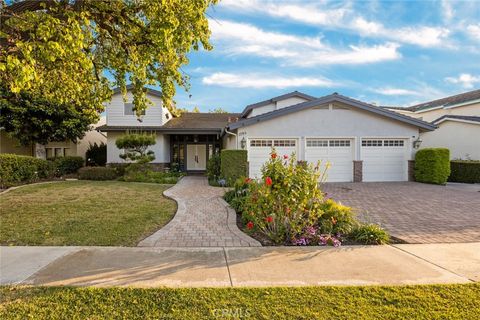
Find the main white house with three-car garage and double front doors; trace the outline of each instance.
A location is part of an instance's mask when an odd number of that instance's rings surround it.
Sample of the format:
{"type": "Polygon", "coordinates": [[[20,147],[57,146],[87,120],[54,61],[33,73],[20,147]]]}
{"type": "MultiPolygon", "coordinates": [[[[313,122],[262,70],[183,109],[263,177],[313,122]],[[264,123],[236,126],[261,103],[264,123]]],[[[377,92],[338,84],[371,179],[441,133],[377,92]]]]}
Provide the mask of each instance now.
{"type": "Polygon", "coordinates": [[[274,147],[298,160],[331,163],[328,181],[406,181],[419,135],[435,125],[337,93],[316,98],[297,91],[247,106],[241,114],[186,113],[175,118],[161,92],[148,90],[153,106],[139,122],[132,96],[113,95],[107,105],[107,162],[123,162],[115,140],[126,132],[154,134],[154,164],[178,163],[201,172],[220,150],[246,149],[249,174],[258,177],[274,147]]]}

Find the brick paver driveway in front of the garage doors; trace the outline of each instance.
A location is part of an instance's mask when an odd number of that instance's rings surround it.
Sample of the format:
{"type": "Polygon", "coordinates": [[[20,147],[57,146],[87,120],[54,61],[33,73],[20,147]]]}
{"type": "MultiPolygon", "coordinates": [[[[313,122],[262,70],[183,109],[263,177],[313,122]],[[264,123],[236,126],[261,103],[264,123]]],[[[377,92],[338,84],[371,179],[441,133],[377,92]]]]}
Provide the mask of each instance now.
{"type": "Polygon", "coordinates": [[[409,243],[480,241],[480,192],[415,182],[331,183],[323,189],[409,243]]]}

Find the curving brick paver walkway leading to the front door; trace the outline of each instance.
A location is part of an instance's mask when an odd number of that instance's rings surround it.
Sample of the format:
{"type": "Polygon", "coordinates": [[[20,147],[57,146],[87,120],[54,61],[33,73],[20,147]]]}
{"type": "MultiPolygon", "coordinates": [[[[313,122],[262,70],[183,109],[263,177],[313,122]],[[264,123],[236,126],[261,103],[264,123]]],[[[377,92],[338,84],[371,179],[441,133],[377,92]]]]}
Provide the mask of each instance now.
{"type": "Polygon", "coordinates": [[[164,194],[178,203],[165,227],[141,241],[143,247],[249,247],[260,243],[237,228],[236,213],[221,198],[223,188],[188,176],[164,194]]]}

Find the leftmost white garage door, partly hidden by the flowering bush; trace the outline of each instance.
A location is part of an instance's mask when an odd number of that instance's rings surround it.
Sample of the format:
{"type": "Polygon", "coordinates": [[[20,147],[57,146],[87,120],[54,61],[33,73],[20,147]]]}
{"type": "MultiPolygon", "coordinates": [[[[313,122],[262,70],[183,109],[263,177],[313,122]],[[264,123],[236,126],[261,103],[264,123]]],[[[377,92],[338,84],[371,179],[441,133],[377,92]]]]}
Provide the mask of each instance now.
{"type": "Polygon", "coordinates": [[[262,177],[262,166],[270,158],[272,147],[279,156],[297,154],[296,139],[250,139],[248,150],[249,175],[251,178],[262,177]]]}

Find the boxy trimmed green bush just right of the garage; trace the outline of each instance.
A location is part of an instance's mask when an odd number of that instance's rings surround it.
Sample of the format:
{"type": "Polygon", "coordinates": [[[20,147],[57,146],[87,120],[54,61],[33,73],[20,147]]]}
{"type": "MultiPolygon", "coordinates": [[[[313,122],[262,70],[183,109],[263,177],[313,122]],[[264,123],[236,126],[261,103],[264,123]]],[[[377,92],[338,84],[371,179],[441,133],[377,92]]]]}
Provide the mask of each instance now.
{"type": "Polygon", "coordinates": [[[415,181],[445,184],[450,175],[450,151],[446,148],[425,148],[415,155],[415,181]]]}

